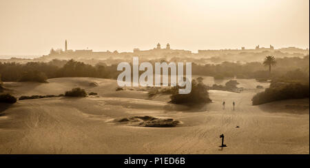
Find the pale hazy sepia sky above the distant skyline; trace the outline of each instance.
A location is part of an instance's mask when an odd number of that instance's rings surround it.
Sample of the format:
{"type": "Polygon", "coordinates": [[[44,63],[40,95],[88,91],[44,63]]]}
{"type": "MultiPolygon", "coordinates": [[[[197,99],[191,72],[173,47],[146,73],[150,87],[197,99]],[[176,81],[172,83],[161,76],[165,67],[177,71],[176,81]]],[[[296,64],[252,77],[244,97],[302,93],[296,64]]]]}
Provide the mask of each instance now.
{"type": "Polygon", "coordinates": [[[309,0],[0,0],[0,55],[309,47],[309,0]]]}

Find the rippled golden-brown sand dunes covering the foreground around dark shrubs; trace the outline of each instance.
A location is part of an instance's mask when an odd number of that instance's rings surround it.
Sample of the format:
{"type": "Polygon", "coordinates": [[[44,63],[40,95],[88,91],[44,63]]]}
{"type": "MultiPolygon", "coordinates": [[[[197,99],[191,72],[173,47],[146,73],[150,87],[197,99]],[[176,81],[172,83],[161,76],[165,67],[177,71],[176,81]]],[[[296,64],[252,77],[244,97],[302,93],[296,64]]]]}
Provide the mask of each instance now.
{"type": "Polygon", "coordinates": [[[0,104],[1,154],[309,154],[309,99],[251,106],[251,97],[262,91],[254,89],[253,80],[238,80],[249,88],[242,93],[209,91],[214,102],[192,110],[167,104],[165,95],[149,99],[143,91],[116,92],[114,80],[57,78],[49,82],[5,86],[18,96],[56,95],[80,86],[99,97],[0,104]],[[225,110],[222,101],[227,103],[225,110]],[[291,109],[287,104],[308,108],[291,109]],[[172,117],[183,124],[141,128],[111,122],[137,115],[172,117]],[[218,147],[220,134],[225,134],[228,146],[223,149],[218,147]]]}

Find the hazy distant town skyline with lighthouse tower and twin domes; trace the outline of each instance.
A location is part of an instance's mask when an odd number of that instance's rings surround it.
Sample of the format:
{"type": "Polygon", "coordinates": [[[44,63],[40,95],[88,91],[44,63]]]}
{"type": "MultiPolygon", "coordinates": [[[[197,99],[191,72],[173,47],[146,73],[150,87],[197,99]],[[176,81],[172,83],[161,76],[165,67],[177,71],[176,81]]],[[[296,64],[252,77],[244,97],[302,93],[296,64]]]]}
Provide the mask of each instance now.
{"type": "Polygon", "coordinates": [[[50,59],[79,59],[79,58],[88,58],[88,59],[107,59],[107,58],[118,58],[118,56],[138,56],[142,58],[174,58],[174,57],[188,57],[188,56],[223,56],[230,54],[239,54],[239,53],[261,53],[261,52],[282,52],[282,53],[304,53],[309,55],[309,49],[300,49],[296,47],[286,47],[280,49],[274,49],[272,45],[269,45],[269,48],[260,47],[257,45],[254,49],[207,49],[207,50],[198,50],[198,54],[192,53],[192,51],[185,49],[171,49],[169,43],[166,47],[161,49],[161,44],[158,43],[154,49],[141,50],[134,48],[133,52],[121,52],[118,53],[114,51],[92,51],[92,49],[68,49],[68,41],[65,40],[65,49],[51,49],[48,54],[50,59]]]}

